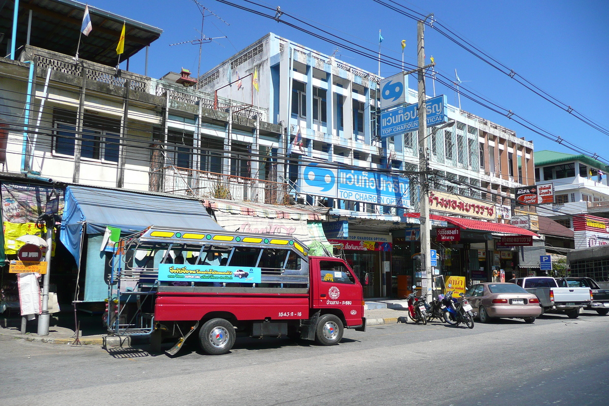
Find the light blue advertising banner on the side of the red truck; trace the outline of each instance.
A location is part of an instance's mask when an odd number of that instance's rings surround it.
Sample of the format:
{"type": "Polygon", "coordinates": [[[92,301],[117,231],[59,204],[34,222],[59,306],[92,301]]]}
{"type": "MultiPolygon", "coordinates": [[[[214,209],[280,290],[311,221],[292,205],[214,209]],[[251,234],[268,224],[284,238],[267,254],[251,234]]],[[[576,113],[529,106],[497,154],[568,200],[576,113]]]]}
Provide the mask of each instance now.
{"type": "Polygon", "coordinates": [[[158,264],[160,282],[247,282],[260,283],[261,268],[219,265],[158,264]]]}

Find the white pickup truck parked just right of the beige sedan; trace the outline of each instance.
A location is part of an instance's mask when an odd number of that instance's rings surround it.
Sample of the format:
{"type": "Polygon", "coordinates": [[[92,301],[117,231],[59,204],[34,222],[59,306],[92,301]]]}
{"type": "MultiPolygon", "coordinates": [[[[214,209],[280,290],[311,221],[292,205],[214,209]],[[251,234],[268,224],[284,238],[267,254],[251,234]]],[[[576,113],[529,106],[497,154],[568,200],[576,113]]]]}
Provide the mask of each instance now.
{"type": "Polygon", "coordinates": [[[540,306],[546,313],[566,313],[576,318],[582,307],[590,306],[592,290],[588,287],[558,287],[556,279],[549,276],[516,278],[509,282],[537,295],[540,306]]]}

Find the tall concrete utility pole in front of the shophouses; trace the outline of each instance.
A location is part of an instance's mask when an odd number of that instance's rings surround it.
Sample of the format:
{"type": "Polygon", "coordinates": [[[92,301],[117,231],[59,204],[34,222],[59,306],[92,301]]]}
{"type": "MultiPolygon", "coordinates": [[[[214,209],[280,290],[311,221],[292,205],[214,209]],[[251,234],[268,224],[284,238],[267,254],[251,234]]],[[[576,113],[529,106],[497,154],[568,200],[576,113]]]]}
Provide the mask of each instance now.
{"type": "MultiPolygon", "coordinates": [[[[427,159],[427,106],[425,102],[425,45],[423,21],[417,22],[417,67],[418,67],[418,141],[420,192],[419,208],[421,210],[421,295],[431,289],[431,219],[429,219],[429,169],[427,159]]],[[[431,299],[431,298],[430,298],[431,299]]]]}

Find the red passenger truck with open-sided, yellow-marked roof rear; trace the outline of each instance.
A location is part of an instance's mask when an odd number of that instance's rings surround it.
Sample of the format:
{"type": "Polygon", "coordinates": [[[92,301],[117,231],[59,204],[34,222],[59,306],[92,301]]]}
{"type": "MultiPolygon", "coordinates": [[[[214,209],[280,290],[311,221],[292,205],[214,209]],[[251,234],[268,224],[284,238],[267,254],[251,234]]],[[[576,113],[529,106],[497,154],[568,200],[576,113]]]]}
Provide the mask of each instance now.
{"type": "Polygon", "coordinates": [[[119,243],[108,280],[108,332],[150,335],[175,354],[196,333],[208,354],[237,335],[335,345],[365,331],[362,285],[345,261],[309,257],[283,236],[150,227],[119,243]]]}

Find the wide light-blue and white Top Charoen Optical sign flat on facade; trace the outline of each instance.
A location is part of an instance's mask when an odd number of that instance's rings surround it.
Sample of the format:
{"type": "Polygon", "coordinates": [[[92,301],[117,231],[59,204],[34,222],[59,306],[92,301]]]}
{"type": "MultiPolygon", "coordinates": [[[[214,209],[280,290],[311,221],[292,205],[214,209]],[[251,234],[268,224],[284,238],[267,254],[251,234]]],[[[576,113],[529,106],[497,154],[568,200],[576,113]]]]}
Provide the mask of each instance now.
{"type": "Polygon", "coordinates": [[[301,193],[360,201],[373,205],[410,207],[409,180],[373,170],[303,167],[301,193]]]}

